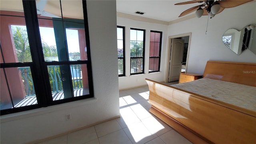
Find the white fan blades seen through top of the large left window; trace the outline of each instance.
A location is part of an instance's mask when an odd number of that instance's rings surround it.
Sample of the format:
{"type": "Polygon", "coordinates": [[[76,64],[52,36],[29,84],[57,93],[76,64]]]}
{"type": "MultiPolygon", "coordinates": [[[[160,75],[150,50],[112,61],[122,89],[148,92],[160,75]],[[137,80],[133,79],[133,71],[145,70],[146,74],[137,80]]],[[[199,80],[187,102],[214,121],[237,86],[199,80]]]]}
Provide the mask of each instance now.
{"type": "Polygon", "coordinates": [[[56,16],[54,14],[51,14],[49,12],[46,12],[44,10],[45,6],[46,6],[47,0],[38,0],[36,2],[36,11],[37,14],[40,14],[40,16],[47,16],[47,17],[51,17],[51,18],[60,18],[59,16],[56,16]]]}

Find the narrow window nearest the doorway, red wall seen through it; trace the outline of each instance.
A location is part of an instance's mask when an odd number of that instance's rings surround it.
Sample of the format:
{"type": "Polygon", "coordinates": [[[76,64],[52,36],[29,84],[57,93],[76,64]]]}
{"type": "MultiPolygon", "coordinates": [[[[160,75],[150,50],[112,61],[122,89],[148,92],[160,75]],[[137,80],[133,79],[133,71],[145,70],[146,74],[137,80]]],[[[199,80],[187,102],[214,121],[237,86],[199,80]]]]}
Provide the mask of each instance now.
{"type": "Polygon", "coordinates": [[[150,31],[149,72],[159,72],[162,32],[150,31]]]}

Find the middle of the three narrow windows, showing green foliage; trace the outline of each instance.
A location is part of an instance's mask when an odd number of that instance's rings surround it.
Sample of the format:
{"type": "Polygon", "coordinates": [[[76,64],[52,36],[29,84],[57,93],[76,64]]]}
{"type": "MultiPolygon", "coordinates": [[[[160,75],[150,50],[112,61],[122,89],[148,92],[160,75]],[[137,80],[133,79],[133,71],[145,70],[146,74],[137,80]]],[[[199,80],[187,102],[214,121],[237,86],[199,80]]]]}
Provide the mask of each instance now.
{"type": "Polygon", "coordinates": [[[130,29],[130,74],[144,74],[145,30],[130,29]]]}

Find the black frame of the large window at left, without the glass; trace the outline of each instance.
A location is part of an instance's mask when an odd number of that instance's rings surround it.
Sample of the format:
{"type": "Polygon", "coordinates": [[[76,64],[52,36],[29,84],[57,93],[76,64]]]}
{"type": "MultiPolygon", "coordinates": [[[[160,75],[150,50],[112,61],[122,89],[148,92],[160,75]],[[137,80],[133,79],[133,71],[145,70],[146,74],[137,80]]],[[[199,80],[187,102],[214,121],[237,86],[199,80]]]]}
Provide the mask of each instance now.
{"type": "MultiPolygon", "coordinates": [[[[43,49],[42,49],[42,43],[41,43],[40,31],[39,31],[39,23],[38,23],[38,17],[37,17],[37,10],[36,10],[36,1],[35,0],[22,0],[22,4],[23,4],[23,8],[24,8],[24,18],[25,18],[25,22],[26,22],[26,28],[27,28],[27,33],[28,33],[28,41],[29,41],[29,45],[30,45],[32,62],[1,63],[0,68],[4,69],[4,68],[29,66],[31,69],[31,74],[32,74],[33,82],[34,82],[34,89],[36,92],[37,104],[18,107],[18,108],[4,109],[4,110],[1,110],[0,115],[22,112],[22,111],[26,111],[26,110],[32,110],[32,109],[36,109],[36,108],[42,108],[42,107],[52,106],[52,105],[56,105],[56,104],[63,104],[66,102],[72,102],[72,101],[76,101],[76,100],[82,100],[82,99],[94,97],[86,0],[82,0],[82,7],[83,7],[83,13],[84,13],[84,29],[85,29],[85,38],[86,38],[86,47],[87,47],[87,60],[48,62],[47,64],[44,61],[44,54],[43,54],[43,49]],[[60,64],[68,64],[68,65],[86,64],[90,94],[53,101],[50,83],[49,83],[49,75],[48,75],[47,65],[60,65],[60,64]]],[[[3,15],[3,16],[11,16],[11,15],[3,15]]],[[[19,16],[19,17],[23,17],[23,16],[19,16]]],[[[2,52],[1,55],[4,60],[1,42],[0,42],[0,48],[1,48],[1,52],[2,52]]],[[[8,82],[7,82],[7,85],[8,85],[8,82]]],[[[71,85],[72,85],[72,83],[71,83],[71,85]]],[[[8,88],[8,90],[10,93],[9,88],[8,88]]],[[[12,97],[12,96],[10,96],[10,97],[12,97]]]]}

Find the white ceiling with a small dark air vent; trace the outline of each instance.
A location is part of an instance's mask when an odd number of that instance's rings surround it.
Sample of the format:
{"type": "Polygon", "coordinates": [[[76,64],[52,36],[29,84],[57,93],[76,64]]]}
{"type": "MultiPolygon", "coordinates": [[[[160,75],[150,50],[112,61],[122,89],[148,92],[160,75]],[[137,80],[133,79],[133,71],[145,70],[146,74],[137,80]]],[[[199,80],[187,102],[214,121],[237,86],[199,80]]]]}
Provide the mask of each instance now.
{"type": "MultiPolygon", "coordinates": [[[[186,1],[190,0],[116,0],[116,12],[170,22],[177,20],[184,10],[200,5],[198,3],[174,5],[186,1]],[[145,14],[135,14],[136,11],[145,12],[145,14]]],[[[191,14],[195,12],[186,16],[191,14]]]]}

